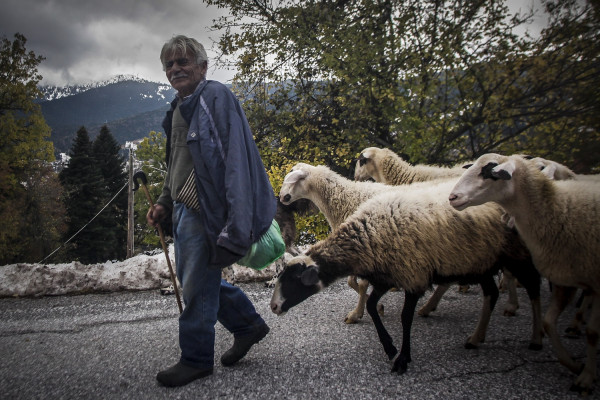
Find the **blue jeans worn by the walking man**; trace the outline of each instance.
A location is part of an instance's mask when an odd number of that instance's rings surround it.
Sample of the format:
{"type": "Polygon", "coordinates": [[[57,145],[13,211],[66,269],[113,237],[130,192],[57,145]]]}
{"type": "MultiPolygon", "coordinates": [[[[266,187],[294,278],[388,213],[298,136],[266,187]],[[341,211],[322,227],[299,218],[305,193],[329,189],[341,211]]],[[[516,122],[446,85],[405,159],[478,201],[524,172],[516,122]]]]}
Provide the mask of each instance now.
{"type": "Polygon", "coordinates": [[[174,203],[173,239],[184,303],[179,317],[181,362],[212,368],[217,321],[234,336],[251,334],[265,321],[239,287],[221,279],[221,269],[208,267],[210,246],[200,215],[182,203],[174,203]]]}

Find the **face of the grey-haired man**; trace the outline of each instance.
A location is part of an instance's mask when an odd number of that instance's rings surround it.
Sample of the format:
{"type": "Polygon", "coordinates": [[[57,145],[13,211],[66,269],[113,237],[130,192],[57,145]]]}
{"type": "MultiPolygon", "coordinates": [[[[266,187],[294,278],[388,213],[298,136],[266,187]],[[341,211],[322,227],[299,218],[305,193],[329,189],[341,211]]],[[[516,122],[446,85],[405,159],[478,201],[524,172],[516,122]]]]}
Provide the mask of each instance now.
{"type": "Polygon", "coordinates": [[[206,63],[196,64],[195,57],[181,54],[171,54],[165,59],[165,73],[171,86],[181,97],[194,93],[198,83],[206,76],[206,63]]]}

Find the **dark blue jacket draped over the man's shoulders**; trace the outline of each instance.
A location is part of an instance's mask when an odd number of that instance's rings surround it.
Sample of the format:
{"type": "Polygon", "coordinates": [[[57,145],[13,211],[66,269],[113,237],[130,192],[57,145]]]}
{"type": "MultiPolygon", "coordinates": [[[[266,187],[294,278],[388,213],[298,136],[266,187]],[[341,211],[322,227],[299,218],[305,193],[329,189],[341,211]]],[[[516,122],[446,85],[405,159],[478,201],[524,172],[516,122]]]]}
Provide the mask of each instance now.
{"type": "MultiPolygon", "coordinates": [[[[167,158],[177,101],[163,121],[167,158]]],[[[180,110],[189,126],[187,143],[210,238],[209,265],[226,267],[269,229],[277,208],[273,188],[244,111],[225,85],[202,82],[180,110]]]]}

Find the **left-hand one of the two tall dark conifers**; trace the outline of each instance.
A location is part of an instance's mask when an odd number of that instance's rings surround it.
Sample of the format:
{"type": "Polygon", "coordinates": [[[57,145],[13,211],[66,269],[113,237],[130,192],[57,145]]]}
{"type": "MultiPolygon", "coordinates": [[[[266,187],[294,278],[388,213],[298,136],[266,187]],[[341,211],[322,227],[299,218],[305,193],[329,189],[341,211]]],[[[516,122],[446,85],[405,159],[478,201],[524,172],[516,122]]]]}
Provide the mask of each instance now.
{"type": "Polygon", "coordinates": [[[85,127],[77,131],[69,157],[67,166],[59,174],[69,218],[69,228],[64,237],[65,242],[71,239],[67,254],[71,260],[82,263],[105,261],[103,226],[96,220],[92,221],[103,207],[104,182],[85,127]]]}

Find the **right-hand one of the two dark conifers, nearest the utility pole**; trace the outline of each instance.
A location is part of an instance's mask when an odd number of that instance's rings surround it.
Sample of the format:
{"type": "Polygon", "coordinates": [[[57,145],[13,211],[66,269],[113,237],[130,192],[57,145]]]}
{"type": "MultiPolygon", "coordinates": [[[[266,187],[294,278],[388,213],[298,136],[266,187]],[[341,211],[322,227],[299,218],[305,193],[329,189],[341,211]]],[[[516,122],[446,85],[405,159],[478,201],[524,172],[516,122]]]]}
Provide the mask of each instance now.
{"type": "Polygon", "coordinates": [[[127,252],[127,172],[125,160],[119,154],[121,148],[106,125],[92,145],[92,156],[100,169],[102,196],[100,204],[109,206],[98,216],[102,227],[104,260],[124,259],[127,252]],[[116,197],[114,197],[116,196],[116,197]],[[114,199],[113,199],[114,197],[114,199]]]}

